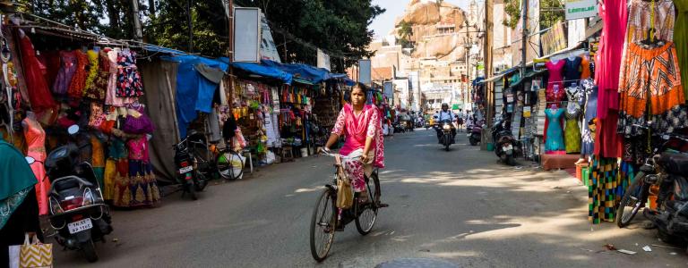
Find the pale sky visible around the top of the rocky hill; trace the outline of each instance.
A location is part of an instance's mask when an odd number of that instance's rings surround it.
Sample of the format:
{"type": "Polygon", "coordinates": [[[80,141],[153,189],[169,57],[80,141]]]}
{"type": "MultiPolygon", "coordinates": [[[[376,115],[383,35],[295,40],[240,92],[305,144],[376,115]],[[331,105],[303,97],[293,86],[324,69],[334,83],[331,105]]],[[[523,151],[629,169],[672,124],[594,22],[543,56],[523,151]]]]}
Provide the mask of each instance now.
{"type": "MultiPolygon", "coordinates": [[[[380,5],[387,9],[387,11],[377,16],[368,28],[373,29],[377,36],[386,35],[394,28],[394,20],[404,13],[404,9],[406,9],[406,5],[409,2],[409,0],[373,0],[373,4],[380,5]]],[[[470,0],[444,0],[444,2],[459,6],[463,10],[468,10],[470,0]]]]}

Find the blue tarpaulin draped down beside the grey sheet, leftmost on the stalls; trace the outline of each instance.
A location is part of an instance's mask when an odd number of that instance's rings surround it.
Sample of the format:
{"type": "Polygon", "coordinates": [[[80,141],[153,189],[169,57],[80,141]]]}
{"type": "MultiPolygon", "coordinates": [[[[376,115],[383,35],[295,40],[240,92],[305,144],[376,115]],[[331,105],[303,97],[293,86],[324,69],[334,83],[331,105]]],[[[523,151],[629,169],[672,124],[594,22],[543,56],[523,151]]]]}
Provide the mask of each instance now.
{"type": "Polygon", "coordinates": [[[228,64],[197,55],[166,56],[163,60],[179,63],[176,71],[176,118],[179,135],[186,137],[186,128],[196,119],[196,111],[211,113],[212,97],[219,84],[206,79],[196,64],[227,71],[228,64]]]}

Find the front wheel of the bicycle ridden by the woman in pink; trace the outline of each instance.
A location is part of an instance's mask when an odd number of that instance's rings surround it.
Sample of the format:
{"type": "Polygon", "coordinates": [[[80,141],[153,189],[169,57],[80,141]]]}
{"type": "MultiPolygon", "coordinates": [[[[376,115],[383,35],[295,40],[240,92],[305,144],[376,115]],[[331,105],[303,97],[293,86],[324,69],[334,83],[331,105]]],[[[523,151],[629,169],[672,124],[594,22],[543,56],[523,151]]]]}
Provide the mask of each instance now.
{"type": "Polygon", "coordinates": [[[322,262],[330,253],[337,224],[337,206],[330,189],[325,189],[318,198],[311,218],[311,255],[322,262]]]}

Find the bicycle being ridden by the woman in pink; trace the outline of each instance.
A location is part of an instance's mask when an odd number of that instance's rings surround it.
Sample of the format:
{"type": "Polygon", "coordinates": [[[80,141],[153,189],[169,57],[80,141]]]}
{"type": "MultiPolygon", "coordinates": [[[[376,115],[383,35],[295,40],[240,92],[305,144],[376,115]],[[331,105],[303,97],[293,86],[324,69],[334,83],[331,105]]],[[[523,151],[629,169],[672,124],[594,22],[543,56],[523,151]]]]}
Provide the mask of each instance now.
{"type": "Polygon", "coordinates": [[[359,160],[361,156],[341,156],[323,152],[323,155],[335,157],[337,159],[332,184],[326,184],[323,193],[318,197],[318,202],[314,207],[311,217],[310,244],[311,255],[317,262],[322,262],[330,252],[334,233],[342,231],[349,222],[356,222],[356,229],[361,235],[367,235],[373,230],[377,220],[378,209],[388,205],[380,203],[380,180],[378,179],[378,169],[375,168],[370,178],[365,176],[366,193],[368,194],[366,203],[360,200],[360,193],[354,194],[354,203],[348,209],[337,207],[337,181],[341,180],[344,174],[342,163],[347,160],[359,160]],[[371,180],[372,179],[372,180],[371,180]],[[321,206],[322,205],[322,206],[321,206]],[[322,207],[322,208],[321,208],[322,207]],[[322,237],[320,237],[322,236],[322,237]],[[323,244],[320,245],[319,243],[323,244]]]}

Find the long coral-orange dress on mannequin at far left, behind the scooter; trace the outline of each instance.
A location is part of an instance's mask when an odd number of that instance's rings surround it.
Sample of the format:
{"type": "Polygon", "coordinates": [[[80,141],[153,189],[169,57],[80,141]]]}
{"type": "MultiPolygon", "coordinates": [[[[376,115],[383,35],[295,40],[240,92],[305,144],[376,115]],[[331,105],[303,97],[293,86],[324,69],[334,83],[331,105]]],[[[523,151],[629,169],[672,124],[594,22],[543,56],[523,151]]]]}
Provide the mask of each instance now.
{"type": "Polygon", "coordinates": [[[29,149],[27,156],[36,159],[31,163],[31,170],[39,180],[36,184],[36,198],[39,200],[39,214],[46,215],[48,210],[47,193],[50,191],[50,180],[47,180],[46,168],[43,163],[46,161],[46,130],[40,126],[38,121],[25,118],[24,137],[29,149]]]}

